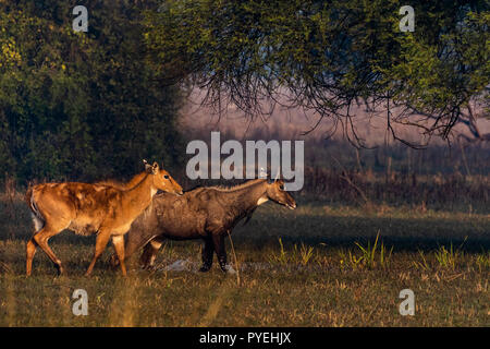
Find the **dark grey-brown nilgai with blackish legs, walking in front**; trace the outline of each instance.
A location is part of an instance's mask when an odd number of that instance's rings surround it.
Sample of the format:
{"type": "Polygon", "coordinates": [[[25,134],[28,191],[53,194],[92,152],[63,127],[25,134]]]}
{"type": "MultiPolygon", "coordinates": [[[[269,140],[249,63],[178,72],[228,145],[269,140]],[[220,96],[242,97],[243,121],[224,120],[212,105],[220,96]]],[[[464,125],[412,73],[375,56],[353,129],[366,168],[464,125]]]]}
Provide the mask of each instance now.
{"type": "MultiPolygon", "coordinates": [[[[211,268],[213,252],[217,253],[221,269],[226,272],[229,266],[224,237],[231,233],[241,219],[246,217],[248,221],[254,210],[269,200],[291,209],[296,208],[294,198],[284,191],[281,179],[272,182],[256,179],[228,189],[197,188],[182,196],[158,194],[126,234],[125,257],[145,246],[140,262],[144,267],[151,267],[166,239],[203,239],[200,272],[211,268]]],[[[113,266],[118,264],[114,254],[111,263],[113,266]]]]}

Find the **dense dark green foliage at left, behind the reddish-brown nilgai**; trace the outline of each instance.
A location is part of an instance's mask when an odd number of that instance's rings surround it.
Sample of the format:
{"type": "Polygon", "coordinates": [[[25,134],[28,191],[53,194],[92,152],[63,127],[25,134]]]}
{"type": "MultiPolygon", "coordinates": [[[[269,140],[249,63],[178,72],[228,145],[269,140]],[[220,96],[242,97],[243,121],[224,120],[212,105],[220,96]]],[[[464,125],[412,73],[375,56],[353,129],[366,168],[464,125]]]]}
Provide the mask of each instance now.
{"type": "Polygon", "coordinates": [[[179,91],[146,62],[140,12],[88,1],[0,2],[0,172],[33,179],[127,177],[143,158],[177,160],[179,91]]]}

